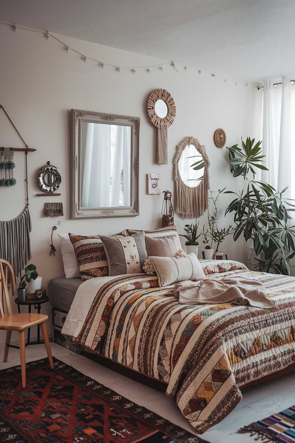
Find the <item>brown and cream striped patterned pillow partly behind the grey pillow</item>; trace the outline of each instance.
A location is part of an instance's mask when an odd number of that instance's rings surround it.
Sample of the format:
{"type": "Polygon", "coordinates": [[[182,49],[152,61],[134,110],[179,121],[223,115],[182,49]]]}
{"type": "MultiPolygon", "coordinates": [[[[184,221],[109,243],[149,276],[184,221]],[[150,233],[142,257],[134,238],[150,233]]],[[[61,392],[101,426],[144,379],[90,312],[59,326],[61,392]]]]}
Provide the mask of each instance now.
{"type": "MultiPolygon", "coordinates": [[[[126,230],[115,234],[115,238],[126,237],[126,230]]],[[[107,256],[100,235],[75,235],[69,233],[75,250],[81,280],[109,275],[107,256]]]]}

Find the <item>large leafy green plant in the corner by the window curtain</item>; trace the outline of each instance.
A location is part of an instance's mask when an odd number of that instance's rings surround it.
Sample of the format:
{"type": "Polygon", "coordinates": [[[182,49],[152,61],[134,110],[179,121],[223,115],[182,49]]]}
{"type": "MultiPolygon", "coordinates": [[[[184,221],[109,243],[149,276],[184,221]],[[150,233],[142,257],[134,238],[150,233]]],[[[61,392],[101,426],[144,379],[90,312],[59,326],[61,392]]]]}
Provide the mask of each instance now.
{"type": "MultiPolygon", "coordinates": [[[[255,178],[255,167],[267,170],[266,167],[262,168],[262,165],[257,163],[264,155],[257,155],[261,153],[261,142],[253,147],[254,141],[248,137],[246,143],[242,142],[243,150],[237,148],[236,145],[228,148],[230,170],[235,177],[243,175],[244,179],[247,179],[246,174],[250,170],[255,178]],[[242,158],[245,161],[237,163],[242,158]]],[[[291,217],[287,212],[295,209],[286,208],[285,205],[295,206],[288,202],[291,199],[283,198],[286,189],[278,192],[267,183],[251,180],[246,190],[239,193],[226,191],[227,194],[237,196],[226,209],[226,214],[234,213],[236,224],[234,241],[237,241],[241,234],[245,241],[252,239],[257,256],[261,252],[264,253],[263,258],[257,258],[260,270],[284,275],[290,273],[287,262],[295,255],[295,226],[290,226],[291,217]]]]}

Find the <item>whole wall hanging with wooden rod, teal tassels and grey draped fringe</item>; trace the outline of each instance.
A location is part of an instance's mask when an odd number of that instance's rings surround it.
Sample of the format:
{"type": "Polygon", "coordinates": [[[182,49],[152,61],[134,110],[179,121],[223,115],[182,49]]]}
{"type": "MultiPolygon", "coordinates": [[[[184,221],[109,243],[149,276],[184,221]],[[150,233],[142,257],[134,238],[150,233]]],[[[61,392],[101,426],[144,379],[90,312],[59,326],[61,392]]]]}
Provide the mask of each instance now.
{"type": "MultiPolygon", "coordinates": [[[[10,117],[6,113],[4,107],[0,105],[0,109],[3,109],[6,117],[15,128],[15,125],[12,123],[10,117]]],[[[31,226],[31,217],[29,213],[29,195],[28,195],[28,171],[27,171],[27,155],[29,152],[34,152],[36,149],[29,148],[28,145],[23,140],[23,137],[19,134],[19,131],[15,128],[15,131],[19,135],[20,139],[23,141],[25,148],[0,148],[0,152],[3,152],[5,157],[3,161],[12,162],[13,163],[13,153],[17,151],[22,151],[25,153],[25,164],[26,164],[26,194],[27,194],[27,204],[25,209],[18,217],[13,220],[8,221],[0,221],[0,258],[9,261],[11,264],[15,276],[19,276],[20,272],[26,267],[28,261],[31,259],[31,242],[30,242],[30,232],[32,230],[31,226]],[[12,155],[7,157],[7,154],[12,152],[12,155]]],[[[2,159],[0,157],[0,159],[2,159]]],[[[13,170],[13,168],[7,168],[13,170]]],[[[2,171],[2,170],[1,170],[2,171]]],[[[2,172],[1,172],[2,173],[2,172]]],[[[11,182],[11,180],[15,180],[13,175],[5,175],[5,177],[0,176],[1,179],[10,180],[9,184],[5,184],[4,186],[13,186],[15,182],[11,182]]]]}

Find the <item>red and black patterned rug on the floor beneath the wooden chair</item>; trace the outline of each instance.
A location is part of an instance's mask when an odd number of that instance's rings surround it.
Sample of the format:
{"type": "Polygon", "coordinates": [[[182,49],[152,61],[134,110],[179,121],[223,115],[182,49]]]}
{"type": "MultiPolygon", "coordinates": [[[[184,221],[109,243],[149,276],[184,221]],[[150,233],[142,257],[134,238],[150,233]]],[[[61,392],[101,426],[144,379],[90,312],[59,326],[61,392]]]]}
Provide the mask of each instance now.
{"type": "Polygon", "coordinates": [[[204,443],[54,358],[0,371],[0,442],[204,443]]]}

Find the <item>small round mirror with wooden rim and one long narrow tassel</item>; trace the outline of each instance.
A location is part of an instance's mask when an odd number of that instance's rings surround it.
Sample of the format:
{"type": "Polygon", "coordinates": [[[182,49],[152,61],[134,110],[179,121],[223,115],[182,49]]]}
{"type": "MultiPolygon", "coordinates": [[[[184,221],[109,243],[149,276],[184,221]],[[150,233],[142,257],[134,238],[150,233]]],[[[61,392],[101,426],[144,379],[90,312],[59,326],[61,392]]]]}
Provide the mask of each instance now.
{"type": "Polygon", "coordinates": [[[158,128],[157,164],[168,164],[167,128],[176,116],[173,97],[166,89],[154,89],[149,95],[147,110],[151,122],[158,128]]]}

